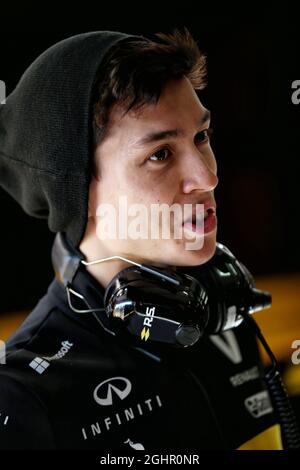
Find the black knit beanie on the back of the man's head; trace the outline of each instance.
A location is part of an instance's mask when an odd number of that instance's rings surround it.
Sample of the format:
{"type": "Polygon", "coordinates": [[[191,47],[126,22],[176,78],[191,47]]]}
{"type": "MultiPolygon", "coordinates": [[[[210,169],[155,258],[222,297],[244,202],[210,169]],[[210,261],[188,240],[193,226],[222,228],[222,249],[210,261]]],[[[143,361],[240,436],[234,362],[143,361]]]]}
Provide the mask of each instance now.
{"type": "Polygon", "coordinates": [[[0,105],[0,185],[74,247],[87,224],[93,86],[104,55],[128,37],[95,31],[54,44],[0,105]]]}

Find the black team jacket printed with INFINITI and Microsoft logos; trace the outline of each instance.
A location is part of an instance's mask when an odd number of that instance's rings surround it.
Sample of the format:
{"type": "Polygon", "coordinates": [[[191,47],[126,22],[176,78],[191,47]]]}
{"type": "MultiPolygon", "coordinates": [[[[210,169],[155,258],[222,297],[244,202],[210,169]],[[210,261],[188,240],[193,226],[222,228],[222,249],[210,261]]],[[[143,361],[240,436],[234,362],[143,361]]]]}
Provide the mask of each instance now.
{"type": "MultiPolygon", "coordinates": [[[[73,288],[103,305],[84,269],[73,288]]],[[[73,312],[52,282],[0,366],[0,448],[235,449],[275,424],[245,326],[188,349],[135,348],[102,328],[103,315],[73,312]]]]}

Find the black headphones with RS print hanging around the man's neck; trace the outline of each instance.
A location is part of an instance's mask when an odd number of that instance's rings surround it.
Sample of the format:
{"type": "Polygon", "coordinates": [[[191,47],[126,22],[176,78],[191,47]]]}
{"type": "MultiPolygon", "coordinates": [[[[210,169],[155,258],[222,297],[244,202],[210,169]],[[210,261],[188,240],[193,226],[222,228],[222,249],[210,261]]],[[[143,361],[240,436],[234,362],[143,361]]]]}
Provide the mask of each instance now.
{"type": "Polygon", "coordinates": [[[192,346],[204,334],[235,328],[248,314],[271,305],[271,295],[255,288],[246,267],[220,243],[207,263],[172,272],[126,261],[133,266],[120,271],[106,287],[104,308],[77,310],[70,293],[89,304],[74,290],[74,278],[80,267],[92,263],[63,233],[56,235],[52,248],[53,267],[67,290],[70,308],[79,313],[102,311],[110,332],[135,342],[192,346]]]}

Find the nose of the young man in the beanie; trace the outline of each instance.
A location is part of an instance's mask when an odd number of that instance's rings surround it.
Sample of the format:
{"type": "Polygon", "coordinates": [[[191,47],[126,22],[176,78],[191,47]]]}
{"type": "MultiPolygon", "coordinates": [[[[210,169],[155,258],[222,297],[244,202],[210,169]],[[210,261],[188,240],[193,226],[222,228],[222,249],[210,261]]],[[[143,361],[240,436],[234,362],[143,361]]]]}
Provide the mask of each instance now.
{"type": "Polygon", "coordinates": [[[213,191],[218,184],[217,164],[214,154],[200,154],[199,151],[189,155],[184,162],[183,192],[194,190],[213,191]]]}

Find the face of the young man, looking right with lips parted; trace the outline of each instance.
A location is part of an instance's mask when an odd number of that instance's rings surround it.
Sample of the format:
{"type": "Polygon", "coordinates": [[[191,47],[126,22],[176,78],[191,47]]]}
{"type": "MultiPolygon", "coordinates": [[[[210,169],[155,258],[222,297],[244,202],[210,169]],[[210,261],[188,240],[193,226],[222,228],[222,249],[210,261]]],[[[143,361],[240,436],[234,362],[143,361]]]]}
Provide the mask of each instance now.
{"type": "MultiPolygon", "coordinates": [[[[125,115],[123,108],[112,108],[108,132],[95,152],[98,176],[93,177],[90,186],[89,224],[93,220],[93,231],[98,234],[97,254],[120,255],[157,266],[198,265],[213,255],[216,243],[213,214],[204,240],[202,238],[203,246],[189,250],[187,244],[196,242],[195,236],[200,235],[191,232],[188,223],[181,238],[174,237],[171,224],[170,237],[164,238],[160,231],[159,238],[155,239],[153,232],[151,235],[150,220],[153,204],[170,207],[179,204],[182,208],[192,204],[195,208],[196,204],[206,203],[215,207],[217,165],[207,138],[208,127],[207,110],[186,78],[170,82],[157,104],[125,115]],[[121,196],[123,201],[126,196],[127,214],[133,204],[142,204],[145,208],[149,217],[146,238],[132,239],[127,231],[122,239],[117,231],[117,238],[111,239],[96,230],[101,220],[95,216],[97,208],[112,204],[118,214],[121,196]]],[[[140,218],[139,210],[135,216],[128,216],[127,228],[138,215],[140,218]]],[[[171,221],[174,222],[172,215],[171,221]]]]}

